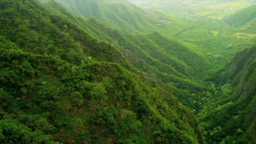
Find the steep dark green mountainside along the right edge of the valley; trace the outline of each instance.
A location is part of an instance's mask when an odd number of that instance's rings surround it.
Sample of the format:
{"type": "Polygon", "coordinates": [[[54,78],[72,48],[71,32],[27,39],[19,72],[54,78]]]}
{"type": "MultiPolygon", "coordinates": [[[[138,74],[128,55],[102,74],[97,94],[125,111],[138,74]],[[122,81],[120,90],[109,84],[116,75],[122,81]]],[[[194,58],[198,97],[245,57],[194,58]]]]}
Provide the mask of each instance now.
{"type": "Polygon", "coordinates": [[[208,107],[212,112],[206,114],[206,117],[210,117],[211,126],[206,128],[216,128],[219,125],[225,141],[255,143],[256,47],[238,52],[229,64],[216,73],[213,80],[219,85],[225,83],[233,89],[232,94],[224,94],[224,97],[212,101],[212,105],[219,107],[208,107]],[[218,120],[214,122],[215,118],[218,120]]]}

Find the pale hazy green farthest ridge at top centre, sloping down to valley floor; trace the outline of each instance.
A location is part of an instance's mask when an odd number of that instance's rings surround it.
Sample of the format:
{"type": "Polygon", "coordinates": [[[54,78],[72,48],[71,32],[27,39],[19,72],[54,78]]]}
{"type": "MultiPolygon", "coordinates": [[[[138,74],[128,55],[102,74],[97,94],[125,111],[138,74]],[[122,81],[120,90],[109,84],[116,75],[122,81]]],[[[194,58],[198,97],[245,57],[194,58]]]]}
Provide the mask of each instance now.
{"type": "Polygon", "coordinates": [[[70,10],[89,18],[96,16],[112,27],[142,32],[160,31],[165,35],[175,35],[185,24],[174,16],[139,8],[120,0],[57,0],[70,10]]]}

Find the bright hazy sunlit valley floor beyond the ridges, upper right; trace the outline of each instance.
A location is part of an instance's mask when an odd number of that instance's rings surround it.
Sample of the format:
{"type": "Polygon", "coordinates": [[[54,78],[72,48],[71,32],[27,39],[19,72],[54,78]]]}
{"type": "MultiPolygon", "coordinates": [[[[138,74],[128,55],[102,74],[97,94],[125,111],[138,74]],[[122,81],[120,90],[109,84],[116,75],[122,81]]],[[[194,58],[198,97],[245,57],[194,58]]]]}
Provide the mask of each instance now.
{"type": "Polygon", "coordinates": [[[255,1],[130,1],[142,7],[178,15],[187,27],[177,33],[175,38],[188,47],[203,52],[211,63],[217,64],[217,67],[230,61],[237,51],[255,44],[255,1]],[[232,21],[242,21],[242,24],[235,25],[232,21]]]}

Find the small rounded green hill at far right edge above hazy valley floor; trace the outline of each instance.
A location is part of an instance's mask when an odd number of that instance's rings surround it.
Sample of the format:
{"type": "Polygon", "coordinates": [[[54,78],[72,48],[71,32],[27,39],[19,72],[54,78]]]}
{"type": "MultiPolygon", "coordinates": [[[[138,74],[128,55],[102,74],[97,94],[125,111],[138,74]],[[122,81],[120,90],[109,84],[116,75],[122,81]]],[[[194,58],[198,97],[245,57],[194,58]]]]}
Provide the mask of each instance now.
{"type": "Polygon", "coordinates": [[[256,19],[256,5],[249,6],[247,8],[241,9],[236,13],[233,13],[224,18],[224,21],[230,25],[241,26],[246,24],[253,19],[256,19]]]}

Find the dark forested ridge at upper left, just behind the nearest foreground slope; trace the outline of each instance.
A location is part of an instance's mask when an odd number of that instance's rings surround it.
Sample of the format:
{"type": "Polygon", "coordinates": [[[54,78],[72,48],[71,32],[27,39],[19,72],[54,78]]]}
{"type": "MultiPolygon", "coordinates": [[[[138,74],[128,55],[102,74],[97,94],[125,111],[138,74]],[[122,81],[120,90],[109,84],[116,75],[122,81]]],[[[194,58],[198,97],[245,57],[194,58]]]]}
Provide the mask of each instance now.
{"type": "Polygon", "coordinates": [[[51,7],[56,5],[55,11],[51,11],[52,9],[45,8],[49,5],[39,5],[38,2],[31,1],[31,5],[37,4],[32,7],[38,7],[34,10],[27,6],[29,2],[26,2],[10,1],[7,4],[2,3],[1,7],[6,11],[1,12],[3,22],[0,34],[19,45],[24,51],[42,55],[53,54],[73,64],[91,56],[99,61],[110,61],[126,68],[131,67],[120,51],[89,35],[77,24],[79,21],[75,16],[64,8],[58,10],[57,3],[49,3],[51,7]],[[22,7],[20,12],[14,10],[21,4],[27,4],[27,7],[22,7]],[[45,13],[42,13],[42,9],[48,14],[43,19],[41,17],[45,13]],[[24,15],[25,12],[28,14],[24,15]]]}

